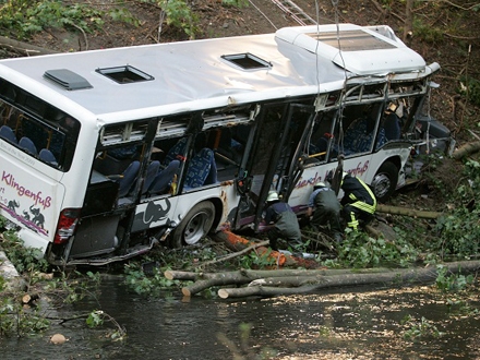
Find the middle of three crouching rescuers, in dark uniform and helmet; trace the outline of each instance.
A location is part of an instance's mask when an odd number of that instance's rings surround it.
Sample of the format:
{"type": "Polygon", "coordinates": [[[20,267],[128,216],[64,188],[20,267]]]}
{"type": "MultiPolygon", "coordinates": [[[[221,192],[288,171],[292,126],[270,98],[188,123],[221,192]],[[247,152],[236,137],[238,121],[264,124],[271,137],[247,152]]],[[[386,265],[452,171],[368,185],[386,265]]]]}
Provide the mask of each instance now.
{"type": "Polygon", "coordinates": [[[337,242],[341,242],[340,227],[340,202],[329,185],[319,181],[313,187],[313,192],[309,199],[309,208],[307,216],[311,217],[310,224],[315,230],[322,230],[329,227],[329,232],[337,242]]]}

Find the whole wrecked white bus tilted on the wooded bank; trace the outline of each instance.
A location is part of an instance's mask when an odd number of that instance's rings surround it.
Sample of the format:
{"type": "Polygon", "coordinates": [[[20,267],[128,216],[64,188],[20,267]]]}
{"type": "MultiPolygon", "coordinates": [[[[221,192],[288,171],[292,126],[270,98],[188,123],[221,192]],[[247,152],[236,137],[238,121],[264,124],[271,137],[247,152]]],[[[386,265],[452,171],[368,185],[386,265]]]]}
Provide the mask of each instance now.
{"type": "Polygon", "coordinates": [[[352,24],[1,60],[0,215],[51,264],[100,265],[260,231],[271,189],[301,215],[339,154],[385,201],[439,68],[352,24]]]}

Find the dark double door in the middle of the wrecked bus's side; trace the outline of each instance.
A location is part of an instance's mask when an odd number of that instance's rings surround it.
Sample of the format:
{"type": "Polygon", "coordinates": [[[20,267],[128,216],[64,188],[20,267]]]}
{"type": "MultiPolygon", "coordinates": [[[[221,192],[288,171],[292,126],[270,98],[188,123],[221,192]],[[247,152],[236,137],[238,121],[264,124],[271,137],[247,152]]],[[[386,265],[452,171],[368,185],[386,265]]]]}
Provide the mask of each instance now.
{"type": "Polygon", "coordinates": [[[245,172],[248,191],[240,201],[237,227],[259,228],[268,191],[288,201],[299,176],[300,157],[314,119],[314,107],[301,104],[265,105],[257,117],[245,172]]]}

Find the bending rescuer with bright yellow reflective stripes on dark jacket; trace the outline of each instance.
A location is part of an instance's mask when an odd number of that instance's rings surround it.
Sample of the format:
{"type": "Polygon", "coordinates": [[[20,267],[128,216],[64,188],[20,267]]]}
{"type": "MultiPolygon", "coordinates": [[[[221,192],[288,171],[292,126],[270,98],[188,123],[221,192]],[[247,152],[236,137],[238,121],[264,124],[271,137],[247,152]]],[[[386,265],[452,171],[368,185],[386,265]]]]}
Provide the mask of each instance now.
{"type": "Polygon", "coordinates": [[[348,172],[343,175],[341,190],[343,216],[347,220],[347,227],[357,231],[359,221],[368,224],[373,219],[376,209],[375,195],[367,183],[348,172]]]}

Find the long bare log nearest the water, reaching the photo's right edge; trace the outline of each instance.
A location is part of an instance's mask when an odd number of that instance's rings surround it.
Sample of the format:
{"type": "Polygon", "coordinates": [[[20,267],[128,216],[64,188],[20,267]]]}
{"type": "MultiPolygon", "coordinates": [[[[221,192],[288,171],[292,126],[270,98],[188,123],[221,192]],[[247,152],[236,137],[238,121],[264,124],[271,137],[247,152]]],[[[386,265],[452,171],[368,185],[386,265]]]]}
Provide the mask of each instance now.
{"type": "MultiPolygon", "coordinates": [[[[479,261],[454,262],[444,264],[447,271],[452,274],[468,274],[480,269],[479,261]]],[[[388,273],[375,274],[344,274],[332,276],[312,276],[304,280],[286,277],[283,281],[281,277],[266,278],[255,280],[251,286],[243,288],[224,288],[218,290],[218,296],[221,299],[241,298],[249,296],[280,296],[280,295],[298,295],[305,292],[313,292],[320,289],[332,287],[346,287],[359,285],[375,285],[375,284],[395,284],[401,285],[432,283],[437,277],[437,267],[423,267],[410,269],[396,269],[388,273]],[[314,284],[312,284],[314,283],[314,284]],[[298,287],[289,287],[292,284],[298,284],[298,287]],[[267,286],[264,286],[267,285],[267,286]],[[285,287],[284,287],[285,286],[285,287]]]]}

